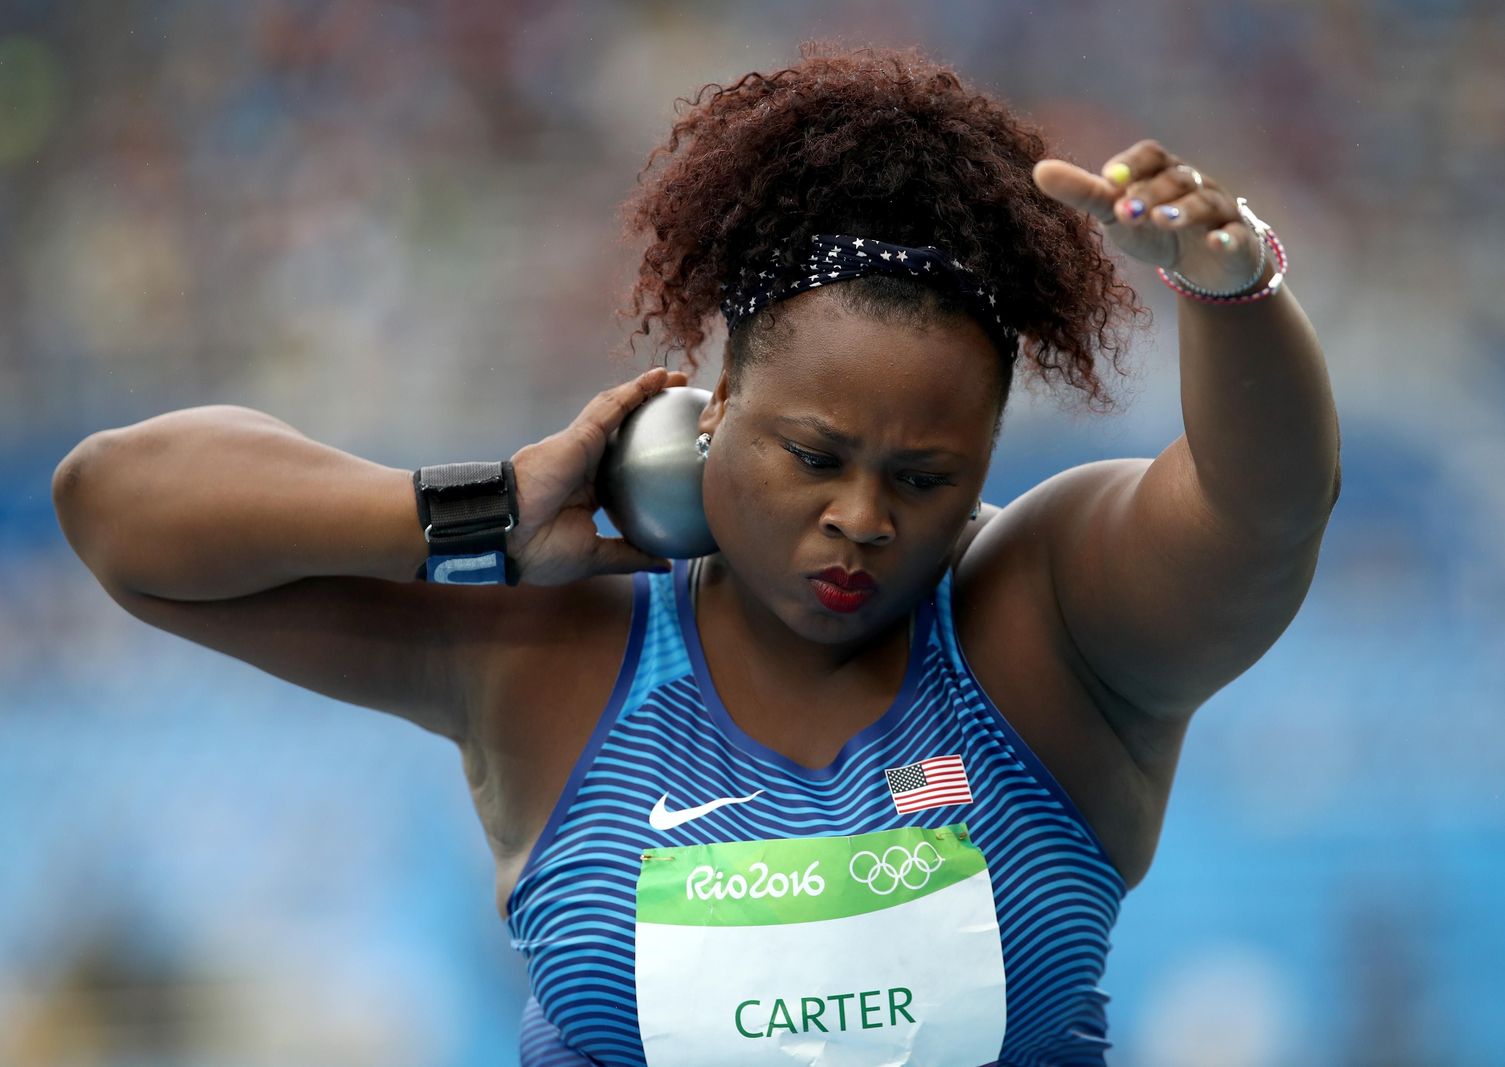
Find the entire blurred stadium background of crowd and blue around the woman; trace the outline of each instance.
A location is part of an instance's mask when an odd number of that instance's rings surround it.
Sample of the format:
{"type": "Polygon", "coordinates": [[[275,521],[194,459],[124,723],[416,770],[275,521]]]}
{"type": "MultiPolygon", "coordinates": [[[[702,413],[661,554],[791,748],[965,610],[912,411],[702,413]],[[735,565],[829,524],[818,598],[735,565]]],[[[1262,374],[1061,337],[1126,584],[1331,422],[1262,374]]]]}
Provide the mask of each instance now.
{"type": "MultiPolygon", "coordinates": [[[[1190,731],[1115,1067],[1505,1062],[1499,3],[0,0],[0,1064],[515,1062],[451,748],[128,619],[48,476],[205,402],[403,467],[551,432],[628,373],[614,211],[671,101],[807,36],[930,48],[1088,166],[1162,138],[1332,360],[1342,503],[1190,731]]],[[[1020,394],[990,500],[1178,430],[1135,277],[1120,412],[1020,394]]]]}

